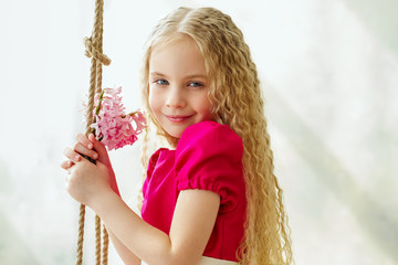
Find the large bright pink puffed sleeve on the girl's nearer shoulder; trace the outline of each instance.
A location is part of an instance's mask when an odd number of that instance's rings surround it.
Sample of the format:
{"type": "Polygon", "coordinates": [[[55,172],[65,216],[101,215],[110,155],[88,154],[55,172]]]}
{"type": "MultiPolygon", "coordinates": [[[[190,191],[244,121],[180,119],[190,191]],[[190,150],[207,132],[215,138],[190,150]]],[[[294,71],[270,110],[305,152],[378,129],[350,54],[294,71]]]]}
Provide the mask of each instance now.
{"type": "Polygon", "coordinates": [[[216,192],[220,212],[233,211],[245,195],[242,156],[242,140],[229,126],[208,120],[188,127],[176,149],[178,190],[216,192]]]}

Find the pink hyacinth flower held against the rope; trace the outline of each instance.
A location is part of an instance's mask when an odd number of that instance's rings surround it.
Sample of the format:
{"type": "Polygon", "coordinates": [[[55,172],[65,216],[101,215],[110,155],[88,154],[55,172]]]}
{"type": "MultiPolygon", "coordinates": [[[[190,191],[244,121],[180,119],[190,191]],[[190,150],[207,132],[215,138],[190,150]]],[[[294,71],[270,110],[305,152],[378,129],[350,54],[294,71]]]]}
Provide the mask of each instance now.
{"type": "Polygon", "coordinates": [[[138,139],[137,135],[147,127],[144,114],[139,109],[129,114],[125,113],[121,93],[122,87],[104,88],[94,98],[95,109],[91,127],[96,138],[108,150],[133,145],[138,139]]]}

